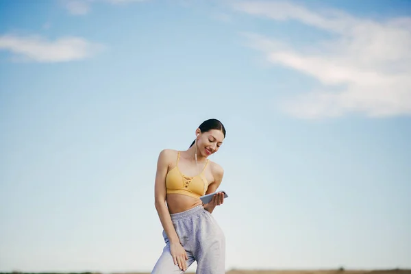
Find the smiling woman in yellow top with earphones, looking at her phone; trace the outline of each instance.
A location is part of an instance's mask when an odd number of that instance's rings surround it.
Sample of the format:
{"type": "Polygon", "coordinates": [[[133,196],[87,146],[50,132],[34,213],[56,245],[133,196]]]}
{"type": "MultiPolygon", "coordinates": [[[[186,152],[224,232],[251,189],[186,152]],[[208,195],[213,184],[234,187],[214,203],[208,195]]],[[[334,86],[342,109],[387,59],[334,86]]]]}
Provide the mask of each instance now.
{"type": "Polygon", "coordinates": [[[225,128],[216,119],[201,123],[186,151],[160,152],[155,175],[155,209],[166,243],[152,274],[182,273],[197,261],[197,273],[225,273],[225,236],[212,212],[223,193],[203,205],[199,197],[216,192],[223,168],[208,160],[219,150],[225,128]]]}

